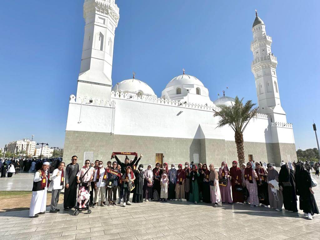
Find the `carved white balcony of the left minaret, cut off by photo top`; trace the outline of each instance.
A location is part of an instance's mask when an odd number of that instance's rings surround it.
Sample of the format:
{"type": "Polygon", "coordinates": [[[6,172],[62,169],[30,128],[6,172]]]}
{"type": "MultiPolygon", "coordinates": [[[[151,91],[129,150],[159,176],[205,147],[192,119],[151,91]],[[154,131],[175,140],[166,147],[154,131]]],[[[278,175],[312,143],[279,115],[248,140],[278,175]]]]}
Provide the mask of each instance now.
{"type": "Polygon", "coordinates": [[[85,0],[83,5],[83,17],[86,15],[98,12],[100,14],[108,15],[115,23],[116,27],[119,22],[119,7],[115,0],[85,0]]]}

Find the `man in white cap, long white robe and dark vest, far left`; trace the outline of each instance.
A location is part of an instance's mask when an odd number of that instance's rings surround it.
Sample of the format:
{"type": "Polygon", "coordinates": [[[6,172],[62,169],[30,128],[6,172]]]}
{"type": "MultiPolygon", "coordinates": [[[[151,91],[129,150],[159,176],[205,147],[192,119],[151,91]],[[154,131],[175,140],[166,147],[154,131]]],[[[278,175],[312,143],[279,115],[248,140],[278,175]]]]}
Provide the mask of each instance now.
{"type": "Polygon", "coordinates": [[[49,162],[44,162],[41,169],[35,172],[29,211],[29,217],[31,218],[37,218],[39,217],[38,214],[44,214],[50,178],[48,169],[49,162]]]}

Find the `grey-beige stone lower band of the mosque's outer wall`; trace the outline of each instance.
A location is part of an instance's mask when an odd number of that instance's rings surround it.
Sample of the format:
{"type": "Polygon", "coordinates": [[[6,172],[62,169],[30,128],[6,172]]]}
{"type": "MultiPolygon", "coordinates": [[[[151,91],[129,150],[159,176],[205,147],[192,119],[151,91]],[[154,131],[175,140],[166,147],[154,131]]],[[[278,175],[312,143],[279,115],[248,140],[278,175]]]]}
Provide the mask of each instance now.
{"type": "MultiPolygon", "coordinates": [[[[71,156],[77,155],[81,166],[86,154],[92,160],[102,160],[106,165],[112,152],[121,151],[138,152],[138,155],[142,153],[144,156],[140,163],[152,164],[152,167],[156,163],[156,154],[162,154],[163,163],[184,164],[193,161],[213,163],[216,167],[219,167],[222,161],[226,161],[231,166],[231,162],[238,159],[235,142],[223,139],[167,138],[66,131],[63,158],[67,164],[71,156]]],[[[279,165],[281,160],[284,162],[297,161],[293,143],[244,142],[244,154],[245,161],[248,161],[249,157],[258,162],[276,165],[279,165]]],[[[120,159],[124,160],[124,156],[120,156],[120,159]]]]}

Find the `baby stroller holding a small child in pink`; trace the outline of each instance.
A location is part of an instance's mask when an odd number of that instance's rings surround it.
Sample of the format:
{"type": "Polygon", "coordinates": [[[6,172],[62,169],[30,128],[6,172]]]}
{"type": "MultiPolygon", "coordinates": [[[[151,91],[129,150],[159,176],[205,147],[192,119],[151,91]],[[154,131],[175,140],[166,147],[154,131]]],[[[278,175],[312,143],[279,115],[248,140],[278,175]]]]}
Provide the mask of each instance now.
{"type": "Polygon", "coordinates": [[[90,197],[90,190],[89,190],[90,182],[81,182],[78,184],[77,187],[77,198],[76,198],[76,207],[74,215],[79,215],[79,212],[88,211],[88,214],[91,213],[90,206],[89,206],[89,197],[90,197]],[[89,195],[89,196],[88,196],[89,195]],[[79,203],[81,201],[81,205],[79,203]]]}

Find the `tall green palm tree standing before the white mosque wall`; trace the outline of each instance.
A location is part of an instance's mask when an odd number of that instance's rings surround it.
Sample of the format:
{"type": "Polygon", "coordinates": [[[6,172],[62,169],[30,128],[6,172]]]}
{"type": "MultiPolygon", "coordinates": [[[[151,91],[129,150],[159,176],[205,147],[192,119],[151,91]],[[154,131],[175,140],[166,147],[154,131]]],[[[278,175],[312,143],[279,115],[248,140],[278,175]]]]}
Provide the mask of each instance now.
{"type": "Polygon", "coordinates": [[[239,164],[244,163],[244,147],[243,147],[243,132],[251,118],[256,117],[259,107],[255,107],[252,100],[248,100],[245,104],[242,103],[236,96],[235,103],[232,106],[218,105],[219,111],[214,111],[214,117],[220,117],[217,127],[229,125],[235,131],[235,142],[237,147],[239,164]]]}

